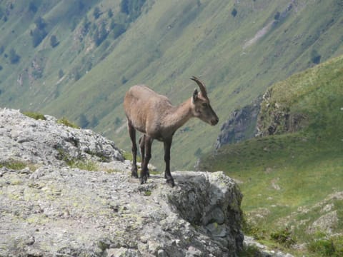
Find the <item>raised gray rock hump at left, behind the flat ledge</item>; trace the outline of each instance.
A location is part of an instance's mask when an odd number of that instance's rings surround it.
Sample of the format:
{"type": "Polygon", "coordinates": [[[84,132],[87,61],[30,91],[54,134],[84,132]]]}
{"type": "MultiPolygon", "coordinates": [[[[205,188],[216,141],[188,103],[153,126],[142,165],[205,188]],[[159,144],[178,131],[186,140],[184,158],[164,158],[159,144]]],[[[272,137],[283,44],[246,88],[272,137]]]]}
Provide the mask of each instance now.
{"type": "Polygon", "coordinates": [[[35,120],[16,110],[0,109],[0,162],[14,159],[61,166],[73,158],[124,160],[113,141],[48,118],[35,120]]]}

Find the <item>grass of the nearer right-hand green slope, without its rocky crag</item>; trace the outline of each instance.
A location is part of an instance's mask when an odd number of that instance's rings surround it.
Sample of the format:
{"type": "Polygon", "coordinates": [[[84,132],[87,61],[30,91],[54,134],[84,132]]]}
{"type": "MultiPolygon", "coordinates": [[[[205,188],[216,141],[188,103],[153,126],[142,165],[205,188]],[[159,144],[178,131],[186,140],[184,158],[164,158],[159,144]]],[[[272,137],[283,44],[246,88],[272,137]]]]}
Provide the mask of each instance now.
{"type": "MultiPolygon", "coordinates": [[[[288,108],[289,114],[307,116],[306,128],[224,146],[202,158],[200,166],[226,171],[242,181],[242,207],[259,229],[294,226],[298,243],[307,241],[307,228],[322,214],[320,208],[304,214],[299,207],[313,207],[343,190],[342,99],[340,56],[272,87],[271,105],[277,103],[288,108]],[[257,213],[262,218],[256,218],[257,213]]],[[[334,202],[334,209],[342,219],[342,200],[334,202]]],[[[343,232],[342,221],[333,231],[343,232]]]]}

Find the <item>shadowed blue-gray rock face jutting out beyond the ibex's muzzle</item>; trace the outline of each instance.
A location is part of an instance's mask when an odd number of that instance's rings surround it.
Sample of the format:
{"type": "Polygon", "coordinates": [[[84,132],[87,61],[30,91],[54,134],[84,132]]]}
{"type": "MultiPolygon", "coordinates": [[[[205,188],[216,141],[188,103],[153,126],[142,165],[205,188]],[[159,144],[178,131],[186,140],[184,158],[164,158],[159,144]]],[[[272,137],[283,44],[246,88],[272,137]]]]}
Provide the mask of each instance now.
{"type": "Polygon", "coordinates": [[[261,100],[257,99],[252,104],[232,112],[230,118],[222,125],[217,138],[217,149],[227,143],[237,143],[252,138],[257,133],[256,123],[261,100]]]}

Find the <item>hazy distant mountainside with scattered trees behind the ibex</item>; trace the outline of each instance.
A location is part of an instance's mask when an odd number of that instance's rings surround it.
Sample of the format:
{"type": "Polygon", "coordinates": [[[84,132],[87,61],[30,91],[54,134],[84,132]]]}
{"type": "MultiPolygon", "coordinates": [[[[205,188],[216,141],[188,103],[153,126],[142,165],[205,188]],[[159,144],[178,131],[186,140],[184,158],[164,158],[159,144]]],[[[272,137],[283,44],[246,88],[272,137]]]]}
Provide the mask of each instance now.
{"type": "MultiPolygon", "coordinates": [[[[343,54],[342,1],[7,0],[0,101],[66,116],[129,151],[122,99],[148,84],[174,104],[207,84],[221,121],[274,82],[343,54]]],[[[172,168],[192,167],[219,126],[177,132],[172,168]],[[182,153],[182,154],[178,154],[182,153]]],[[[154,145],[153,163],[161,164],[154,145]]]]}

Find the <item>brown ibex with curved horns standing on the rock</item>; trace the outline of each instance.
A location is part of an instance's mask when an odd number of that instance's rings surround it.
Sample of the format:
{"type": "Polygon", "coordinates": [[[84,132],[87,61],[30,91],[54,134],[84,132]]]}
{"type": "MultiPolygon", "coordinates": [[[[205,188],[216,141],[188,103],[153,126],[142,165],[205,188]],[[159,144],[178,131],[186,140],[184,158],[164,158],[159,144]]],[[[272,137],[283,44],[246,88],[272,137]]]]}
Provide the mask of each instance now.
{"type": "Polygon", "coordinates": [[[124,110],[132,141],[131,176],[138,178],[136,156],[136,130],[143,133],[139,145],[141,147],[141,183],[145,183],[148,173],[148,163],[151,158],[151,143],[154,139],[164,143],[164,161],[166,169],[164,178],[166,183],[174,186],[174,179],[170,173],[170,147],[172,138],[182,125],[192,117],[197,117],[212,126],[219,121],[217,114],[209,104],[204,83],[195,76],[191,78],[197,82],[200,92],[194,90],[190,99],[179,106],[173,106],[166,96],[156,94],[147,86],[132,86],[124,98],[124,110]]]}

